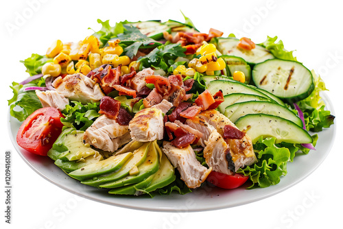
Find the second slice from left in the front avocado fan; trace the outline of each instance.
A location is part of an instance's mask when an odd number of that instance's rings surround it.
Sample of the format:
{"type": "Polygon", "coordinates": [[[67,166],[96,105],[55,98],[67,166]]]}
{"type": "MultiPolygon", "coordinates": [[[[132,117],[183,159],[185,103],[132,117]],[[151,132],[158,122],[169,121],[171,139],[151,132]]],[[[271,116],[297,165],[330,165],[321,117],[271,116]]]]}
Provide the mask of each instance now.
{"type": "Polygon", "coordinates": [[[150,142],[144,143],[141,147],[136,149],[133,152],[133,156],[129,160],[127,160],[125,164],[121,167],[121,169],[119,169],[118,171],[106,174],[104,176],[94,177],[93,179],[84,180],[81,183],[97,187],[101,184],[114,182],[125,176],[128,176],[128,173],[134,166],[138,167],[145,161],[145,159],[147,158],[147,151],[149,147],[150,142]]]}

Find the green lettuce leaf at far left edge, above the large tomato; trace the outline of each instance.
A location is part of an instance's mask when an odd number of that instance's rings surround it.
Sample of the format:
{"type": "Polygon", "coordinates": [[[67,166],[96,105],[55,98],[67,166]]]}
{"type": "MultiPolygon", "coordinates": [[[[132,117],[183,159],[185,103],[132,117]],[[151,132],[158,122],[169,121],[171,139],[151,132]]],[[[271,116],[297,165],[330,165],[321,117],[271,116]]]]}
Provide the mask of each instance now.
{"type": "Polygon", "coordinates": [[[43,107],[35,91],[24,91],[28,86],[37,86],[37,84],[21,85],[12,82],[12,86],[10,86],[13,91],[12,99],[8,100],[10,115],[19,121],[24,121],[35,110],[43,107]]]}

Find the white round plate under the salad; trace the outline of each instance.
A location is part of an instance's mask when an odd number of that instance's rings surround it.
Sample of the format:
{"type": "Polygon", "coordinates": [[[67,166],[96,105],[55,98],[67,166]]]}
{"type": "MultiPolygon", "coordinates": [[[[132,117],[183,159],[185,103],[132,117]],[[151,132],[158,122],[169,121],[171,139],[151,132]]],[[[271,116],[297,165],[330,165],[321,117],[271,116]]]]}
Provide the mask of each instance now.
{"type": "MultiPolygon", "coordinates": [[[[331,101],[326,95],[322,95],[327,109],[331,110],[334,115],[331,101]]],[[[95,200],[104,204],[134,208],[141,210],[158,210],[158,211],[200,211],[215,210],[220,208],[230,208],[255,202],[257,200],[270,197],[280,193],[289,187],[297,184],[309,174],[311,174],[329,154],[333,140],[335,138],[336,125],[319,132],[319,139],[316,151],[311,150],[309,154],[301,154],[294,158],[294,162],[287,163],[287,176],[281,178],[281,182],[265,189],[245,189],[242,186],[239,189],[224,190],[213,186],[204,186],[192,193],[178,195],[172,193],[168,196],[155,196],[150,198],[147,195],[140,197],[110,195],[104,189],[97,189],[86,186],[67,176],[61,169],[54,165],[54,161],[49,157],[36,156],[16,144],[16,132],[19,130],[21,123],[8,115],[10,137],[14,147],[19,155],[29,167],[34,169],[40,176],[56,184],[60,188],[67,190],[76,195],[86,197],[89,200],[95,200]]]]}

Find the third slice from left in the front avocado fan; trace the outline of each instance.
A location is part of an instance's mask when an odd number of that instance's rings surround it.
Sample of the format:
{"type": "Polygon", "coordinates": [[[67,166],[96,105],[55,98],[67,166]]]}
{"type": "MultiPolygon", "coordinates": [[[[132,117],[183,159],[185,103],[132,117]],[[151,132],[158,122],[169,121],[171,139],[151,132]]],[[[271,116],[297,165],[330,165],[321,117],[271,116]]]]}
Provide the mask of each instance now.
{"type": "MultiPolygon", "coordinates": [[[[143,162],[143,164],[139,165],[138,173],[136,175],[129,175],[123,177],[115,182],[108,182],[105,184],[100,185],[102,188],[117,188],[120,186],[124,186],[126,184],[137,184],[148,178],[150,175],[156,173],[158,170],[158,152],[156,150],[155,144],[150,144],[149,150],[147,152],[147,158],[143,162]]],[[[129,172],[130,173],[130,172],[129,172]]]]}

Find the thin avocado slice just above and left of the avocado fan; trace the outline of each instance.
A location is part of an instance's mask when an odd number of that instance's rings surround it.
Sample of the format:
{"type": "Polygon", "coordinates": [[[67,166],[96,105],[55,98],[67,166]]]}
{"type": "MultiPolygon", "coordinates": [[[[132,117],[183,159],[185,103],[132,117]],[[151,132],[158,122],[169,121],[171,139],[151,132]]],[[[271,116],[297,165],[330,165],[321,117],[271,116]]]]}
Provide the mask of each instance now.
{"type": "Polygon", "coordinates": [[[62,169],[64,172],[70,173],[72,171],[81,169],[82,167],[86,167],[102,160],[103,157],[101,154],[94,154],[93,156],[88,156],[82,160],[64,161],[57,159],[55,160],[55,165],[60,167],[60,169],[62,169]]]}

